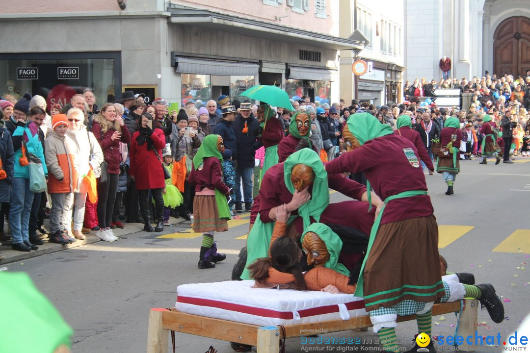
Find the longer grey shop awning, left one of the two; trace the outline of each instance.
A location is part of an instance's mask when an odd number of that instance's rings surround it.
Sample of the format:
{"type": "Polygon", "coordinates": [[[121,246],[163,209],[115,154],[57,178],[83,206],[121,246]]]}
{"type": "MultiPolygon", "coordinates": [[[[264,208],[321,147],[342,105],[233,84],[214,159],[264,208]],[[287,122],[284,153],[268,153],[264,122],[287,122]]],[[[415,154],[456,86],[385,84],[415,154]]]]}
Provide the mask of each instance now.
{"type": "Polygon", "coordinates": [[[175,71],[182,74],[258,76],[258,64],[175,57],[175,71]]]}

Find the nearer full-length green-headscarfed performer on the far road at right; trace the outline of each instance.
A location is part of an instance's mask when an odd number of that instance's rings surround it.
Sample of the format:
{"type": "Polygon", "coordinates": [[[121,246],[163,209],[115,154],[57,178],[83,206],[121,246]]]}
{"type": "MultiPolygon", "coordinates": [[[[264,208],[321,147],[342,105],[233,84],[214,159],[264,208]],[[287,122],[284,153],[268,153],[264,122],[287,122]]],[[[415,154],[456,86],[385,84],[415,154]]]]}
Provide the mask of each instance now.
{"type": "Polygon", "coordinates": [[[460,143],[462,142],[462,130],[460,121],[456,117],[449,117],[440,132],[440,152],[438,153],[438,164],[436,171],[444,177],[447,184],[446,195],[453,195],[453,186],[456,175],[460,171],[460,143]]]}

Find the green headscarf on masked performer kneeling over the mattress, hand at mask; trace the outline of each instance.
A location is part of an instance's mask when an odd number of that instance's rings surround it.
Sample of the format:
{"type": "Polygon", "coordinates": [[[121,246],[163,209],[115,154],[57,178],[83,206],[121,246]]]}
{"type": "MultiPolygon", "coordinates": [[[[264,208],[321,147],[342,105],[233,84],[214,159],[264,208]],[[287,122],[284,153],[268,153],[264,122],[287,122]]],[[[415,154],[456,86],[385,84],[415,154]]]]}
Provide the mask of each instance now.
{"type": "Polygon", "coordinates": [[[315,172],[315,180],[311,191],[311,199],[298,208],[298,214],[304,220],[304,229],[311,224],[310,216],[317,222],[320,220],[320,215],[328,207],[330,202],[330,194],[328,189],[328,173],[324,169],[324,165],[320,160],[319,155],[315,151],[303,148],[292,155],[290,155],[284,162],[284,182],[287,189],[294,194],[295,187],[291,182],[291,170],[297,164],[305,164],[313,169],[315,172]]]}

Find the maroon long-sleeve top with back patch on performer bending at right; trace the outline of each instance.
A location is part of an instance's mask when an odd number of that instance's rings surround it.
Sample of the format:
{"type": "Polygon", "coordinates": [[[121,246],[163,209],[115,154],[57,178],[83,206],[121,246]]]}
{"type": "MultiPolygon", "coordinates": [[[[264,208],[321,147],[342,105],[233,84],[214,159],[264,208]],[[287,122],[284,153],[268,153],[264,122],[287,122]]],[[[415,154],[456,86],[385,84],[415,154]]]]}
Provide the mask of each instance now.
{"type": "MultiPolygon", "coordinates": [[[[411,141],[394,134],[384,135],[343,153],[328,162],[325,168],[332,174],[364,171],[373,191],[382,200],[404,191],[427,191],[423,170],[418,164],[409,161],[405,155],[407,149],[414,150],[411,141]]],[[[381,224],[428,216],[433,212],[428,195],[398,198],[385,206],[381,224]]]]}

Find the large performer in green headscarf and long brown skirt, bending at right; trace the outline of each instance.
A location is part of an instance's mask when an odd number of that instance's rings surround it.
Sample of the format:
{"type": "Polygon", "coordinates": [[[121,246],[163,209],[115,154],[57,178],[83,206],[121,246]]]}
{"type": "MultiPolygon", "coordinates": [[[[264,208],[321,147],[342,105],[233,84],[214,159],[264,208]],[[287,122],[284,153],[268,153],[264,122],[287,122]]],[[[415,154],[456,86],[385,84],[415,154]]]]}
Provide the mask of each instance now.
{"type": "Polygon", "coordinates": [[[397,316],[416,314],[418,331],[430,334],[432,304],[444,294],[425,175],[412,142],[369,113],[351,115],[342,135],[350,151],[328,162],[326,171],[364,171],[368,189],[384,200],[376,205],[355,294],[364,297],[384,350],[399,351],[397,316]]]}

